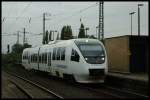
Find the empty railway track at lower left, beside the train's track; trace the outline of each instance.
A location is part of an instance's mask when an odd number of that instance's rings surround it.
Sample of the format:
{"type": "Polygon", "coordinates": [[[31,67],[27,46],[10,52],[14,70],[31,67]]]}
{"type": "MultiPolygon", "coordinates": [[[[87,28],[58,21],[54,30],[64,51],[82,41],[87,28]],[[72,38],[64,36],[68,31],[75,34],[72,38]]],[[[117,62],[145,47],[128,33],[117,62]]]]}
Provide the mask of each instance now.
{"type": "MultiPolygon", "coordinates": [[[[5,71],[6,72],[6,71],[5,71]]],[[[21,76],[15,75],[10,72],[6,72],[9,77],[9,81],[14,84],[19,90],[21,90],[28,98],[59,98],[63,99],[62,96],[48,90],[47,88],[34,83],[21,76]]]]}

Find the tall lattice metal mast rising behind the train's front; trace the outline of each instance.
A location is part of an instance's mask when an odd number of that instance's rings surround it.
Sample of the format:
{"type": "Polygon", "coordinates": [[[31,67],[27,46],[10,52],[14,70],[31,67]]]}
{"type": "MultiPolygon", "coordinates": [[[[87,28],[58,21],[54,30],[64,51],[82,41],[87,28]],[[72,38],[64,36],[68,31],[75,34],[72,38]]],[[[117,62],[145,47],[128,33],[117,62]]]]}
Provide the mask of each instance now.
{"type": "Polygon", "coordinates": [[[103,1],[99,2],[99,31],[98,39],[104,39],[104,12],[103,12],[103,1]],[[100,39],[100,35],[102,36],[100,39]]]}

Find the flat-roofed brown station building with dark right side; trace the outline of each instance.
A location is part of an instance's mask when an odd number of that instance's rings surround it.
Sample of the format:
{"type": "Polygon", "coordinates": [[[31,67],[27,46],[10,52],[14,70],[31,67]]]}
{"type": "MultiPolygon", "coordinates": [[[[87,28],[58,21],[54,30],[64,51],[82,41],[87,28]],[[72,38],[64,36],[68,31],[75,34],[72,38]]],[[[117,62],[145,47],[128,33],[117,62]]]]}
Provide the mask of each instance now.
{"type": "Polygon", "coordinates": [[[148,73],[148,36],[118,36],[106,38],[108,71],[120,73],[148,73]]]}

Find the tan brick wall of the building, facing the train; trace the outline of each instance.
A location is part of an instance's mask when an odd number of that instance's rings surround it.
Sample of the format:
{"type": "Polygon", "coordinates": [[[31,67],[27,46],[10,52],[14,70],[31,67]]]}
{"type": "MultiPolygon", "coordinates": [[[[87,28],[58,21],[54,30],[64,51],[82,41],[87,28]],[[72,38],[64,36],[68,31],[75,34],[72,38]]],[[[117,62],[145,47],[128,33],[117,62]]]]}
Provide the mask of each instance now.
{"type": "Polygon", "coordinates": [[[108,71],[129,73],[129,37],[107,38],[104,42],[108,56],[108,71]]]}

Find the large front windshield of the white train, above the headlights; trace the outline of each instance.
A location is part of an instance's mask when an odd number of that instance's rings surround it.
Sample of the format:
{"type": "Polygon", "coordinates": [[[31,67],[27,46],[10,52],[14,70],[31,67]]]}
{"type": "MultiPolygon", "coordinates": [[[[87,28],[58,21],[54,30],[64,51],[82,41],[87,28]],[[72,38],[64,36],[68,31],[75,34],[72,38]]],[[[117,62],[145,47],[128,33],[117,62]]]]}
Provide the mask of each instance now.
{"type": "Polygon", "coordinates": [[[78,44],[87,63],[102,64],[105,62],[104,49],[100,44],[78,44]]]}

